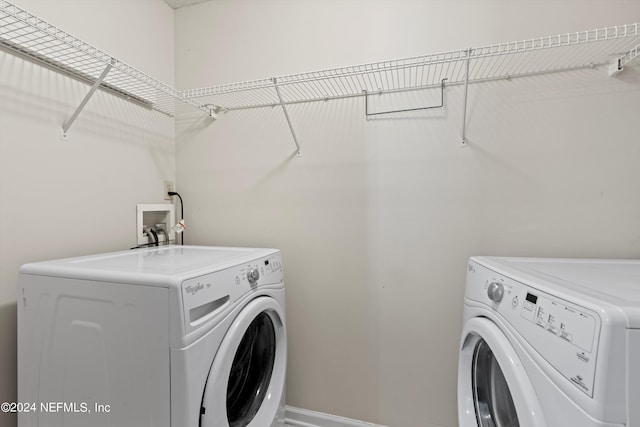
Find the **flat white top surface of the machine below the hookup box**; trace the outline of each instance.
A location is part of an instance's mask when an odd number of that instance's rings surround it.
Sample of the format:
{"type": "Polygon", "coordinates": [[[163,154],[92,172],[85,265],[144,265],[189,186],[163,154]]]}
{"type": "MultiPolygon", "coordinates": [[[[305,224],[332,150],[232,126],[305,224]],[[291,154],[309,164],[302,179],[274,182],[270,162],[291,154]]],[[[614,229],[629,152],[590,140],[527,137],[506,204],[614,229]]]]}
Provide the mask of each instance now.
{"type": "Polygon", "coordinates": [[[159,246],[25,264],[20,273],[169,286],[276,252],[257,248],[159,246]]]}

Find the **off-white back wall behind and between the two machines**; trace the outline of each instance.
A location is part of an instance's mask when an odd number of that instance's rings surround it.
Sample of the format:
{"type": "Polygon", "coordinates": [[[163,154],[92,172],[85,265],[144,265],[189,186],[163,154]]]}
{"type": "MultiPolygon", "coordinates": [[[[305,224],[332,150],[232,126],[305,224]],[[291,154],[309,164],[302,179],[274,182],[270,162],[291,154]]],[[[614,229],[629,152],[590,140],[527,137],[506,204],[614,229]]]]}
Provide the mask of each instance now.
{"type": "MultiPolygon", "coordinates": [[[[176,11],[193,88],[634,22],[636,1],[247,1],[176,11]]],[[[425,99],[436,96],[425,93],[425,99]]],[[[205,100],[206,101],[206,100],[205,100]]],[[[287,403],[455,426],[471,255],[640,256],[640,70],[474,84],[442,110],[361,98],[176,120],[189,241],[282,249],[287,403]]]]}

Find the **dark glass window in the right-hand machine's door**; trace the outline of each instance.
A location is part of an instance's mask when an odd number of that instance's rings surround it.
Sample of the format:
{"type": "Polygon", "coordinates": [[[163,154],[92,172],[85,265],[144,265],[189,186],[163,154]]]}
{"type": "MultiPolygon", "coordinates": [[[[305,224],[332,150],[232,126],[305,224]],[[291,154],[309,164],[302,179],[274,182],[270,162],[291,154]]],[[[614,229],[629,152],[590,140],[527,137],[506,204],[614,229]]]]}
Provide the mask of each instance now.
{"type": "Polygon", "coordinates": [[[476,345],[472,375],[478,426],[519,427],[509,385],[491,348],[484,340],[476,345]]]}

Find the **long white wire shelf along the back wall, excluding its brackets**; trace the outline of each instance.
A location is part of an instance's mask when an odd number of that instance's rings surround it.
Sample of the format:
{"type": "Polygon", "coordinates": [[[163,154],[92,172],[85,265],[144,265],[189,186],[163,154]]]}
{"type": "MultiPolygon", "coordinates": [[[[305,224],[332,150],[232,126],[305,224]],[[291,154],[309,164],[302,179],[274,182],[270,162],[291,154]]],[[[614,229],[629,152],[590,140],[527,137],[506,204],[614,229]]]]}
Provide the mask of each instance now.
{"type": "Polygon", "coordinates": [[[640,44],[640,24],[540,37],[184,92],[225,110],[325,101],[608,64],[640,44]],[[280,97],[278,96],[279,89],[280,97]],[[280,99],[281,98],[281,99],[280,99]],[[282,102],[281,102],[282,101],[282,102]]]}

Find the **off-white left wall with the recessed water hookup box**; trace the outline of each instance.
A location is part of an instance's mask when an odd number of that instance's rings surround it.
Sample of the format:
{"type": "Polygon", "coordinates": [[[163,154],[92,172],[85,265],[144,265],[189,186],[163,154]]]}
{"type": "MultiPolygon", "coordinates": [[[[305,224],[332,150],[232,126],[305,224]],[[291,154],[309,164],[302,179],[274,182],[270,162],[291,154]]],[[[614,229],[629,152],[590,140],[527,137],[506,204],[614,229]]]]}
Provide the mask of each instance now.
{"type": "MultiPolygon", "coordinates": [[[[13,2],[173,84],[173,10],[164,2],[13,2]]],[[[60,140],[88,89],[0,49],[0,402],[16,401],[20,265],[134,246],[136,204],[164,202],[163,181],[175,177],[173,119],[111,94],[96,92],[60,140]]],[[[15,424],[0,413],[0,426],[15,424]]]]}

